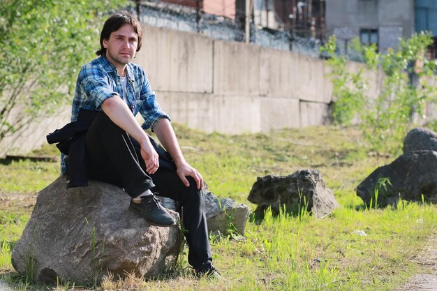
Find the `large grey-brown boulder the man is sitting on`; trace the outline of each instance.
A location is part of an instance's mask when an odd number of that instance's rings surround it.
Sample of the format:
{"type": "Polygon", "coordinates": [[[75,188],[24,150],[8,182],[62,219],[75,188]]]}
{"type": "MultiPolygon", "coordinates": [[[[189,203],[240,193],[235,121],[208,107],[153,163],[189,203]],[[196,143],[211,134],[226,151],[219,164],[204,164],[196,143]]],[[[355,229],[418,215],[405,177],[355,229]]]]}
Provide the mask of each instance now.
{"type": "Polygon", "coordinates": [[[108,272],[114,278],[160,274],[177,260],[179,227],[149,225],[128,205],[117,186],[89,181],[67,190],[59,177],[38,194],[13,248],[13,267],[47,283],[94,281],[108,272]]]}

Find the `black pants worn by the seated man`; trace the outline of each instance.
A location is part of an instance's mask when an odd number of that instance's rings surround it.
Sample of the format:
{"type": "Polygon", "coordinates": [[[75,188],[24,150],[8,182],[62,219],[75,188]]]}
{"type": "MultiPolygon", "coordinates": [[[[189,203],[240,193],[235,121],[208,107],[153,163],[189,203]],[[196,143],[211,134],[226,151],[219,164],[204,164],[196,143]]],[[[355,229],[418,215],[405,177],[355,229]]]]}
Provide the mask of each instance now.
{"type": "Polygon", "coordinates": [[[186,187],[176,174],[176,165],[163,147],[151,139],[159,155],[159,168],[147,175],[140,144],[101,112],[86,136],[87,172],[89,179],[104,181],[124,188],[131,197],[147,189],[177,201],[188,242],[188,263],[195,269],[212,263],[208,241],[205,201],[193,178],[186,187]]]}

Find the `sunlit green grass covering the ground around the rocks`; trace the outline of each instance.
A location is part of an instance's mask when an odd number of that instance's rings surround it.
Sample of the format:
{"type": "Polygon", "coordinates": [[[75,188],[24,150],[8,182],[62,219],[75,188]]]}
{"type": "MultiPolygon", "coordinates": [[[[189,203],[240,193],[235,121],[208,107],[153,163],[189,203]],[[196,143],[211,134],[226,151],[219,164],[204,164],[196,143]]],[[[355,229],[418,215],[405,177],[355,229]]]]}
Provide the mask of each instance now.
{"type": "MultiPolygon", "coordinates": [[[[323,174],[341,207],[321,220],[286,213],[274,218],[267,212],[262,223],[246,225],[244,238],[213,242],[214,264],[225,282],[199,281],[186,269],[179,269],[151,281],[134,276],[124,281],[108,279],[91,289],[394,290],[410,276],[424,271],[412,259],[437,227],[437,207],[400,202],[397,207],[366,209],[355,195],[355,187],[378,165],[396,157],[369,153],[357,128],[330,126],[253,135],[207,135],[177,126],[176,132],[187,160],[200,170],[209,190],[219,197],[230,197],[255,210],[256,205],[248,202],[247,196],[257,177],[313,168],[323,174]],[[367,235],[352,234],[355,230],[367,235]]],[[[38,154],[57,156],[49,146],[38,154]]],[[[38,290],[40,285],[26,285],[13,272],[10,249],[20,238],[31,211],[31,207],[20,207],[19,197],[34,201],[34,194],[58,177],[59,165],[0,163],[0,173],[0,193],[12,196],[6,204],[0,200],[4,204],[0,212],[0,280],[19,290],[38,290]]]]}

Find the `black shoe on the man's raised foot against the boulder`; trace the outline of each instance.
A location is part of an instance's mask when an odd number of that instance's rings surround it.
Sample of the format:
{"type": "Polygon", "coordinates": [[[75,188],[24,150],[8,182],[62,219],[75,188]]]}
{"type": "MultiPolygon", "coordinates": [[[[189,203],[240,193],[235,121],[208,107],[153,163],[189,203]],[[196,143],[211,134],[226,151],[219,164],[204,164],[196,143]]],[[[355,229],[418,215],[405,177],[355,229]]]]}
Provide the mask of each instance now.
{"type": "Polygon", "coordinates": [[[131,199],[129,209],[145,218],[147,223],[151,225],[171,226],[176,224],[175,218],[168,213],[155,195],[141,197],[140,203],[135,203],[131,199]]]}

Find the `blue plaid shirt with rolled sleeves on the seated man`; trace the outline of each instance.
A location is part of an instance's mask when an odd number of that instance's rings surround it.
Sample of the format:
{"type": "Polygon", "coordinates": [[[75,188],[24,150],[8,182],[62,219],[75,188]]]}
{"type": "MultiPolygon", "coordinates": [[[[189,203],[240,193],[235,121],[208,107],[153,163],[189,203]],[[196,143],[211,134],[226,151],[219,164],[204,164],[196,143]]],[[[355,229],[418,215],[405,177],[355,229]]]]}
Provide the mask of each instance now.
{"type": "MultiPolygon", "coordinates": [[[[142,128],[154,128],[161,118],[170,120],[156,102],[155,92],[151,89],[145,71],[133,63],[126,65],[128,78],[126,99],[128,107],[135,116],[140,112],[145,120],[142,128]]],[[[121,96],[123,87],[117,68],[105,56],[98,57],[80,70],[76,82],[75,97],[71,110],[71,121],[77,119],[80,108],[101,111],[104,100],[114,95],[121,96]]],[[[61,172],[66,172],[66,155],[61,154],[61,172]]]]}

